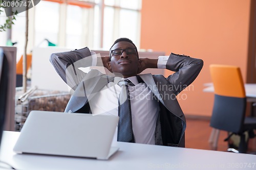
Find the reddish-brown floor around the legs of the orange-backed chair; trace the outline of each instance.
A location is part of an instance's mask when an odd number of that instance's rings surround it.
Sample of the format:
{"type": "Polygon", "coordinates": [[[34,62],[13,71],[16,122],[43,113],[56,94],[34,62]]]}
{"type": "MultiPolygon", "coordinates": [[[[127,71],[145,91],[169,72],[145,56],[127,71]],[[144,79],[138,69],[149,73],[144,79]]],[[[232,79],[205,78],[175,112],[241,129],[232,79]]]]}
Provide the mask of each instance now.
{"type": "MultiPolygon", "coordinates": [[[[211,133],[209,120],[187,118],[187,127],[185,133],[185,146],[186,148],[211,150],[208,139],[211,133]]],[[[227,132],[220,131],[218,141],[218,151],[227,151],[228,144],[224,141],[227,137],[227,132]]],[[[256,137],[249,140],[248,152],[256,151],[256,137]]]]}

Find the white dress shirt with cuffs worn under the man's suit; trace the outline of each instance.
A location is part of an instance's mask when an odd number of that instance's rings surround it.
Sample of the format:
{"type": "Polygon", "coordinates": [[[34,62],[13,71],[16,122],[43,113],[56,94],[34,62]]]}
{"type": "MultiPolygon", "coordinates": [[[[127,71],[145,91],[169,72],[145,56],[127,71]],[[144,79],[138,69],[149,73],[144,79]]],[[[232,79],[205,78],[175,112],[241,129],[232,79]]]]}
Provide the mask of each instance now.
{"type": "MultiPolygon", "coordinates": [[[[159,56],[158,68],[166,67],[168,57],[159,56]]],[[[93,63],[97,63],[95,58],[93,63]]],[[[121,87],[117,83],[121,79],[115,77],[114,82],[106,84],[92,99],[89,99],[92,114],[118,115],[118,96],[121,87]]],[[[158,101],[153,98],[150,88],[145,83],[139,83],[136,76],[128,79],[135,85],[129,86],[135,142],[155,144],[156,120],[159,113],[158,101]]],[[[117,139],[117,129],[114,138],[117,139]]]]}

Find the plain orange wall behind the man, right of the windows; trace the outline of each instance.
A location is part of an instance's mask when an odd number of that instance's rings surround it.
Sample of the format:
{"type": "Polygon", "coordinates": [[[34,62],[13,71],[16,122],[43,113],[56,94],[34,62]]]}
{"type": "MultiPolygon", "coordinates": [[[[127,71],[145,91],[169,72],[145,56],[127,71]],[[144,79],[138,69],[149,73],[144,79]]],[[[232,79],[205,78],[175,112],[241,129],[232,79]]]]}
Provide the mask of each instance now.
{"type": "Polygon", "coordinates": [[[211,82],[209,64],[238,65],[245,78],[249,10],[250,0],[142,0],[141,48],[204,60],[198,78],[179,94],[186,115],[211,115],[214,94],[202,91],[211,82]]]}

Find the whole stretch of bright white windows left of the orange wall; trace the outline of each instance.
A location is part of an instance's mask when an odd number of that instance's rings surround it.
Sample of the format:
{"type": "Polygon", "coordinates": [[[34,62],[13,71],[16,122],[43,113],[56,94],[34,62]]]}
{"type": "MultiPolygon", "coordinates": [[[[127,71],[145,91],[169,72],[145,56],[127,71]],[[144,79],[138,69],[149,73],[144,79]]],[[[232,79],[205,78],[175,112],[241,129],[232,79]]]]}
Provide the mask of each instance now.
{"type": "MultiPolygon", "coordinates": [[[[28,52],[47,46],[45,39],[61,47],[109,50],[115,39],[127,37],[139,47],[140,10],[141,0],[42,0],[29,11],[28,52]]],[[[12,29],[12,41],[21,52],[25,19],[25,12],[18,14],[12,29]]],[[[6,45],[6,35],[0,33],[0,45],[6,45]]]]}

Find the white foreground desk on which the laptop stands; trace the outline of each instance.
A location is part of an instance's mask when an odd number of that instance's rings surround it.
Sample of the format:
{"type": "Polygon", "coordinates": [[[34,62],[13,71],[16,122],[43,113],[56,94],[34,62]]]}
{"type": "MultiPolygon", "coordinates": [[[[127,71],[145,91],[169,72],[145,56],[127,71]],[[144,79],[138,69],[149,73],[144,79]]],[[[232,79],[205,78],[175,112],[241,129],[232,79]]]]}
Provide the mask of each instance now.
{"type": "Polygon", "coordinates": [[[255,169],[256,155],[116,142],[110,160],[15,154],[19,132],[5,131],[0,159],[17,169],[255,169]]]}

